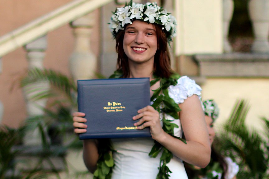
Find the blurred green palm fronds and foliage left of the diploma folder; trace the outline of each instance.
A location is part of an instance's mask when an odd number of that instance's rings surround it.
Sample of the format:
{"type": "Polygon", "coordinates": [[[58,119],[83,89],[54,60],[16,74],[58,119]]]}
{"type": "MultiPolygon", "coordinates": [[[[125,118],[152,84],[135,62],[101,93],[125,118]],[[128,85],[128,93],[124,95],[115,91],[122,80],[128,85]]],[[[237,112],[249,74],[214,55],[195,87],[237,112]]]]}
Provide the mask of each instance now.
{"type": "MultiPolygon", "coordinates": [[[[6,140],[0,140],[0,179],[51,178],[51,176],[60,178],[60,171],[54,166],[51,157],[56,156],[62,159],[67,169],[67,161],[65,161],[67,150],[70,148],[82,149],[82,141],[75,135],[73,138],[68,137],[68,142],[62,142],[66,134],[73,131],[73,117],[71,111],[77,109],[76,84],[72,78],[59,72],[47,69],[41,70],[38,68],[29,69],[27,75],[23,76],[17,82],[19,82],[19,86],[24,89],[32,101],[50,97],[56,98],[48,108],[42,108],[40,106],[44,111],[44,115],[28,117],[22,128],[1,128],[0,137],[6,140]],[[42,84],[49,84],[50,88],[46,89],[42,84]],[[61,98],[57,98],[59,96],[61,98]],[[35,153],[31,154],[37,156],[38,161],[33,168],[18,171],[15,165],[17,163],[23,164],[25,161],[17,160],[16,158],[29,150],[29,148],[23,145],[19,145],[18,147],[18,141],[22,141],[25,132],[35,130],[38,130],[40,133],[41,146],[36,146],[35,153]],[[44,161],[48,163],[50,167],[49,170],[44,168],[44,161]],[[7,175],[8,172],[11,174],[7,175]]],[[[66,172],[68,172],[68,169],[66,172]]],[[[85,173],[86,172],[78,172],[76,175],[85,176],[85,173]]]]}

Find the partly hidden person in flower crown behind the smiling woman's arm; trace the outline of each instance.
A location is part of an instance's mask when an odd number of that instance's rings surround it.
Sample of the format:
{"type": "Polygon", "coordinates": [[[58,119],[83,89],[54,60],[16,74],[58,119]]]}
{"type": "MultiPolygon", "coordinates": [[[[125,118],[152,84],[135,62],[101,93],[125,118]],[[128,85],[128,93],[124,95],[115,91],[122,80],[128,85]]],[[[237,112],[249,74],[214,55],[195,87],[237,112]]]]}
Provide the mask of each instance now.
{"type": "Polygon", "coordinates": [[[185,163],[187,175],[191,179],[236,179],[239,166],[231,158],[218,154],[212,145],[215,138],[213,124],[219,117],[219,108],[213,99],[203,101],[203,106],[211,144],[211,160],[209,165],[202,169],[185,163]]]}

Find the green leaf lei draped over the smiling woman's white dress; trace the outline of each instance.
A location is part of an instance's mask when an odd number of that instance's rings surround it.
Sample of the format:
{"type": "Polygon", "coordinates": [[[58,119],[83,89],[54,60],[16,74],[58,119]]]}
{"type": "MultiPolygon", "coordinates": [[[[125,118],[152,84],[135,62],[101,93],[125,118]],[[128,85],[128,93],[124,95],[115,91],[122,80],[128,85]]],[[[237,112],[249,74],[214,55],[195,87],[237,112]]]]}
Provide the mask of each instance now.
{"type": "MultiPolygon", "coordinates": [[[[109,78],[120,78],[122,76],[122,71],[115,71],[113,75],[109,78]]],[[[180,76],[177,73],[172,74],[169,78],[160,78],[154,75],[154,80],[150,81],[150,86],[154,85],[158,81],[160,81],[160,87],[156,90],[153,90],[154,93],[151,97],[151,101],[153,102],[152,107],[157,110],[160,115],[163,115],[163,130],[169,135],[182,140],[186,144],[186,140],[174,136],[174,128],[178,128],[178,126],[174,123],[171,123],[170,120],[165,118],[164,114],[168,114],[172,116],[174,119],[179,119],[178,112],[181,110],[175,101],[169,97],[168,95],[168,87],[170,85],[177,85],[177,79],[180,76]]],[[[156,179],[168,179],[170,177],[169,173],[172,173],[167,163],[173,158],[172,152],[163,147],[156,140],[154,141],[149,156],[156,158],[158,154],[162,151],[162,155],[160,158],[160,165],[158,167],[159,172],[156,179]]],[[[112,145],[109,139],[99,140],[98,145],[98,153],[99,159],[97,161],[97,169],[94,172],[94,179],[110,179],[112,168],[114,166],[114,160],[112,156],[112,145]]]]}

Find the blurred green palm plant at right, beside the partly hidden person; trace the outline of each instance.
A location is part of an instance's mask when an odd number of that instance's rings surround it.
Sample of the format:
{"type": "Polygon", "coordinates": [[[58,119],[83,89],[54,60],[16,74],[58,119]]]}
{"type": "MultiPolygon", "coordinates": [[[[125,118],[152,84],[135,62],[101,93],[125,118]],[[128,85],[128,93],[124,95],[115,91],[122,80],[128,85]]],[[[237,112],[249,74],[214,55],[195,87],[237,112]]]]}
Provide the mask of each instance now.
{"type": "MultiPolygon", "coordinates": [[[[215,146],[222,154],[238,163],[238,178],[265,179],[268,178],[269,169],[269,140],[245,124],[248,109],[244,100],[235,104],[229,119],[216,137],[215,146]]],[[[268,120],[263,118],[263,121],[268,137],[268,120]]]]}

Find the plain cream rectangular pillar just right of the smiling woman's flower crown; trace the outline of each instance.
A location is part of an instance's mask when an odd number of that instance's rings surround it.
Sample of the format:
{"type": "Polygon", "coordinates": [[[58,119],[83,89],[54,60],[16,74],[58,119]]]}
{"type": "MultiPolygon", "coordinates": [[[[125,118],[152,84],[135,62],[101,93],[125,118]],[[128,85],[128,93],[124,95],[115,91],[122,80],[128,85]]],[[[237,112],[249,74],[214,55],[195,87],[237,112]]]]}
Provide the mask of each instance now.
{"type": "Polygon", "coordinates": [[[223,53],[222,0],[175,0],[174,4],[175,55],[223,53]]]}

